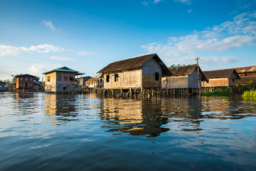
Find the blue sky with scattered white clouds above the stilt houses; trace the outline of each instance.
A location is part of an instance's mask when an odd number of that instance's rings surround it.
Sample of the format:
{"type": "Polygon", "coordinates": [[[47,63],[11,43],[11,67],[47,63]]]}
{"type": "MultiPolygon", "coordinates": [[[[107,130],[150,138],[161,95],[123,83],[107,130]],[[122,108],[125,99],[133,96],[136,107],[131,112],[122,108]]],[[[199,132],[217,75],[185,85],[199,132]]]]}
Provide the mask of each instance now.
{"type": "Polygon", "coordinates": [[[256,66],[256,1],[0,1],[0,79],[67,66],[94,76],[157,53],[203,71],[256,66]]]}

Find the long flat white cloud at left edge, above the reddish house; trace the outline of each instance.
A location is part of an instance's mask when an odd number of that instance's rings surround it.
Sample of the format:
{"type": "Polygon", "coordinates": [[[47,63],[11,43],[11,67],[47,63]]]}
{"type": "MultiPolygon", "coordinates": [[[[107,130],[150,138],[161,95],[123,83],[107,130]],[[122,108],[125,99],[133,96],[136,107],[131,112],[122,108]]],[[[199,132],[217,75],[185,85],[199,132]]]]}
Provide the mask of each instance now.
{"type": "Polygon", "coordinates": [[[47,52],[62,52],[62,51],[65,51],[64,48],[60,48],[58,46],[54,46],[51,44],[39,44],[37,46],[30,46],[29,48],[6,46],[6,45],[0,44],[0,56],[10,56],[10,55],[17,56],[22,52],[47,53],[47,52]]]}

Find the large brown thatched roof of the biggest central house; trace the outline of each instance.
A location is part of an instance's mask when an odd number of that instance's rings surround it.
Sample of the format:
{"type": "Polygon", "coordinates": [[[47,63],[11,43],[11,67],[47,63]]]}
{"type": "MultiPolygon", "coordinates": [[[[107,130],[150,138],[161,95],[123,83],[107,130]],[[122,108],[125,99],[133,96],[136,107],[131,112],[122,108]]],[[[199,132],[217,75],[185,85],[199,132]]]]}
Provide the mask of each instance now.
{"type": "Polygon", "coordinates": [[[145,62],[147,62],[151,58],[154,58],[157,61],[157,63],[159,63],[159,65],[162,67],[162,74],[172,75],[168,67],[165,66],[164,62],[162,62],[162,60],[159,58],[157,54],[149,54],[149,55],[139,56],[136,58],[129,58],[124,60],[119,60],[117,62],[112,62],[97,73],[124,71],[129,69],[140,68],[143,66],[145,62]]]}

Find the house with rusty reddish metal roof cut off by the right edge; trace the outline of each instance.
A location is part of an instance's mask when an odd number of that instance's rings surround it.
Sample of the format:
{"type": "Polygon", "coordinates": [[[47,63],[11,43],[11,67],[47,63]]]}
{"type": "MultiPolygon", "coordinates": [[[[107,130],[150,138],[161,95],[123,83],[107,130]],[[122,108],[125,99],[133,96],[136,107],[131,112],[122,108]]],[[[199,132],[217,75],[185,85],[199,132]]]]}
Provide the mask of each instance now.
{"type": "Polygon", "coordinates": [[[249,84],[250,81],[253,81],[254,87],[256,86],[256,66],[251,67],[240,67],[235,68],[237,73],[241,77],[241,80],[238,80],[237,84],[249,84]]]}

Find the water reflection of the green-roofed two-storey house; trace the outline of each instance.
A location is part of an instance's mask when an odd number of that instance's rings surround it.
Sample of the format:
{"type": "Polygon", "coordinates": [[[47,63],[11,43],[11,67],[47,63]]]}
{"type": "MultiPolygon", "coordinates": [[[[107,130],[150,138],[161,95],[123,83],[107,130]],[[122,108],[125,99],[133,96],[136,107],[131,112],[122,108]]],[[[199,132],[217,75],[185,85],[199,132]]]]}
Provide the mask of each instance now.
{"type": "Polygon", "coordinates": [[[45,108],[48,119],[55,121],[54,124],[65,124],[67,121],[78,120],[75,95],[45,94],[45,108]]]}

